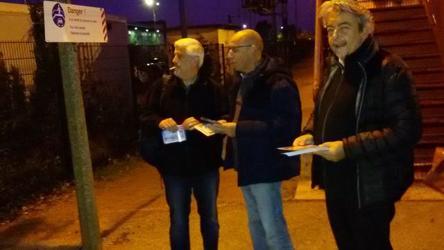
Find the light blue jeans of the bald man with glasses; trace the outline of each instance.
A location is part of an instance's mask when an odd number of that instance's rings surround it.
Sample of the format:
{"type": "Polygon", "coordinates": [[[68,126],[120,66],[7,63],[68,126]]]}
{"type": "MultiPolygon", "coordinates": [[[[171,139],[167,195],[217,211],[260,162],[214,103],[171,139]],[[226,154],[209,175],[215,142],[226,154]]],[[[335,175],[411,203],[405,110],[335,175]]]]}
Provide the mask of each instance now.
{"type": "Polygon", "coordinates": [[[282,211],[281,182],[241,187],[255,250],[293,249],[282,211]]]}

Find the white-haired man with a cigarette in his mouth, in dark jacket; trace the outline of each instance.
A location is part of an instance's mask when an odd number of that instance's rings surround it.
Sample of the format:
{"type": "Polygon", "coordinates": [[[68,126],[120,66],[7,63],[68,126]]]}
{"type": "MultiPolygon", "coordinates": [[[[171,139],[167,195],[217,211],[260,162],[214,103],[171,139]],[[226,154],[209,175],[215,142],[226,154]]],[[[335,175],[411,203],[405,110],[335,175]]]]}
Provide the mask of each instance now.
{"type": "Polygon", "coordinates": [[[228,101],[221,86],[210,79],[210,60],[198,40],[184,38],[174,48],[174,76],[167,84],[158,81],[151,87],[139,118],[142,132],[148,135],[176,132],[179,125],[186,131],[184,142],[162,145],[160,163],[155,166],[164,180],[170,208],[171,249],[190,249],[191,193],[197,201],[204,249],[217,249],[222,136],[207,137],[194,126],[200,117],[218,119],[227,113],[228,101]]]}

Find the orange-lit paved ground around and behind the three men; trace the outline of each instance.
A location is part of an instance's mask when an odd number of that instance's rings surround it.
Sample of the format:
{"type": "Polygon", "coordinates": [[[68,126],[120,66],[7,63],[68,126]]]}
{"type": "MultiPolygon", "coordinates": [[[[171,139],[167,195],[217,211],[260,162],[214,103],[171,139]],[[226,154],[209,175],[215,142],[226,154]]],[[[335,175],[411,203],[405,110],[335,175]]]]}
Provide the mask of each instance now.
{"type": "MultiPolygon", "coordinates": [[[[296,69],[304,119],[311,103],[310,62],[296,69]]],[[[302,176],[284,182],[284,213],[291,238],[300,250],[336,249],[327,222],[323,192],[309,188],[309,158],[303,158],[302,176]],[[297,190],[296,190],[297,188],[297,190]],[[295,196],[296,193],[296,196],[295,196]]],[[[95,174],[94,183],[103,249],[169,249],[168,207],[160,178],[153,167],[134,157],[114,162],[95,174]]],[[[221,172],[219,192],[220,249],[252,249],[246,210],[236,174],[221,172]]],[[[395,249],[444,249],[444,195],[420,183],[396,206],[392,223],[395,249]]],[[[74,188],[41,197],[23,208],[22,216],[0,224],[0,249],[79,249],[80,227],[74,188]]],[[[192,249],[203,249],[196,204],[190,216],[192,249]]]]}

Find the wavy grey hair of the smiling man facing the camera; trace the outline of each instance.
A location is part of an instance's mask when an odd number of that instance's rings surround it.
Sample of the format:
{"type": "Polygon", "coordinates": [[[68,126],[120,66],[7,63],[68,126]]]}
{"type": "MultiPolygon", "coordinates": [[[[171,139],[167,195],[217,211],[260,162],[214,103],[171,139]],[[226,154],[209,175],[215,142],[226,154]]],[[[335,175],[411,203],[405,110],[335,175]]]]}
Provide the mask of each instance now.
{"type": "Polygon", "coordinates": [[[373,35],[375,31],[375,22],[373,22],[372,13],[360,6],[355,0],[330,0],[325,1],[321,7],[319,7],[318,16],[322,18],[324,28],[327,26],[327,16],[331,12],[337,14],[341,12],[349,12],[358,19],[359,31],[363,31],[364,27],[368,27],[368,33],[373,35]]]}

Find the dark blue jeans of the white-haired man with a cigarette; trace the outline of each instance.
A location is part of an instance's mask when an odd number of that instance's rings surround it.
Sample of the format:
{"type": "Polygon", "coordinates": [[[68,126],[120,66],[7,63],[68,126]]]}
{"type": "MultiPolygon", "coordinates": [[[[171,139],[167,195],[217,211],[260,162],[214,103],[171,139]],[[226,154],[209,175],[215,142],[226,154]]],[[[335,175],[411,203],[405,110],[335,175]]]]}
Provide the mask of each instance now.
{"type": "Polygon", "coordinates": [[[219,191],[219,169],[200,176],[181,177],[162,174],[169,206],[171,249],[186,250],[189,246],[189,213],[191,192],[200,215],[200,233],[206,250],[217,249],[219,222],[216,199],[219,191]]]}

